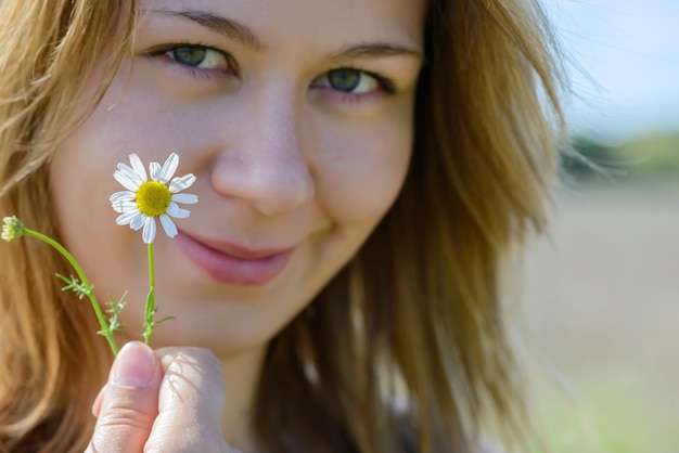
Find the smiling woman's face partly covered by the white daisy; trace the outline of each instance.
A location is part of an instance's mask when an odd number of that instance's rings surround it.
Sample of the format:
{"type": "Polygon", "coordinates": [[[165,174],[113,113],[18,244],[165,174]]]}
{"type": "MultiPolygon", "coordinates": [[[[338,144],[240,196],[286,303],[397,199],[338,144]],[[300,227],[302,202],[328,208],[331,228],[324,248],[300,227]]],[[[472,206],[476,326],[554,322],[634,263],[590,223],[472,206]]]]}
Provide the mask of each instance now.
{"type": "Polygon", "coordinates": [[[141,332],[146,247],[140,231],[116,225],[117,164],[176,152],[176,176],[197,177],[185,192],[200,202],[176,220],[178,236],[158,228],[154,242],[157,316],[175,316],[154,345],[264,345],[401,187],[423,4],[142,1],[132,56],[51,167],[62,237],[101,299],[129,290],[129,336],[141,332]]]}

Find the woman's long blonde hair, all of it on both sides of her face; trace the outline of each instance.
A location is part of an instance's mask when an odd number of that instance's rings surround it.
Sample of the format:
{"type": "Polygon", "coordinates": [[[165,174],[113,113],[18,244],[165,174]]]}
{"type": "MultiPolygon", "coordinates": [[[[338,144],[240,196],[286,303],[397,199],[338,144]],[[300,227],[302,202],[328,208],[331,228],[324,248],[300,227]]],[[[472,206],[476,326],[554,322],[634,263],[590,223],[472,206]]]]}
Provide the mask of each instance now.
{"type": "MultiPolygon", "coordinates": [[[[77,126],[73,100],[105,47],[115,59],[90,109],[106,89],[137,8],[0,1],[2,215],[59,235],[49,156],[77,126]]],[[[535,1],[428,8],[408,179],[358,255],[271,341],[255,410],[268,452],[466,452],[489,417],[522,436],[499,274],[545,223],[563,127],[553,42],[535,1]]],[[[105,341],[60,290],[53,273],[68,269],[47,247],[1,246],[0,266],[0,445],[82,451],[105,341]]]]}

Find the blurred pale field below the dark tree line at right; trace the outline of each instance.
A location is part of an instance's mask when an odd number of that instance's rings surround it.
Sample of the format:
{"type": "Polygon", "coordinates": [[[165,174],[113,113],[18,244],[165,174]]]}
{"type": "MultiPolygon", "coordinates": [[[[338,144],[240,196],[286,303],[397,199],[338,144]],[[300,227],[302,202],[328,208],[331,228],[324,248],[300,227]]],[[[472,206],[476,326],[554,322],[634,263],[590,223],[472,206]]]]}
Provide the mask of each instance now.
{"type": "Polygon", "coordinates": [[[563,191],[525,271],[522,341],[553,451],[679,453],[679,186],[563,191]]]}

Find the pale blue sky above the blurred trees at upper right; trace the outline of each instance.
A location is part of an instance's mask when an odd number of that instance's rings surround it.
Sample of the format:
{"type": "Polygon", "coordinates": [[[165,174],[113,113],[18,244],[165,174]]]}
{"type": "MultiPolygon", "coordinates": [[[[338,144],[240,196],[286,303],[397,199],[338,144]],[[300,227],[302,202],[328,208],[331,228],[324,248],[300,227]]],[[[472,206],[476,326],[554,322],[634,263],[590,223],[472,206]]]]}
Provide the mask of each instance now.
{"type": "Polygon", "coordinates": [[[545,0],[566,53],[576,133],[679,131],[679,0],[545,0]]]}

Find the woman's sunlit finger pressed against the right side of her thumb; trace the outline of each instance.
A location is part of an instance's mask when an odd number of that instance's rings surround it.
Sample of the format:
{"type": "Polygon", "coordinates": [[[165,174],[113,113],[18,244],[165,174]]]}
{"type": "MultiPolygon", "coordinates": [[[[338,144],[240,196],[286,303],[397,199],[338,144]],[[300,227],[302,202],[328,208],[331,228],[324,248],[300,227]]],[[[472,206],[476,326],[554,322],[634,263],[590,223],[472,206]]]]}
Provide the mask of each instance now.
{"type": "Polygon", "coordinates": [[[172,452],[235,452],[221,430],[225,387],[219,360],[200,348],[164,348],[157,353],[165,374],[148,451],[167,451],[162,446],[171,432],[181,433],[174,439],[172,452]]]}

